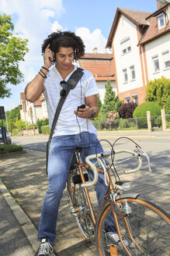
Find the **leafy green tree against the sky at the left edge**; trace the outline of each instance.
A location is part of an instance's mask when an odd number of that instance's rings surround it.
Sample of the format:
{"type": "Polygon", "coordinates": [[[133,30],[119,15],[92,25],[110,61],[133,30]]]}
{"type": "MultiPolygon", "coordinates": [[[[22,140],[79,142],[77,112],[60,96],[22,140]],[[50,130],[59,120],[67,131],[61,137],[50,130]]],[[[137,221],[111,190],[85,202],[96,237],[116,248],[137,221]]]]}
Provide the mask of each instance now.
{"type": "Polygon", "coordinates": [[[10,97],[11,92],[7,84],[16,85],[23,80],[19,62],[24,61],[28,52],[28,40],[12,34],[13,30],[11,16],[0,15],[0,98],[10,97]]]}

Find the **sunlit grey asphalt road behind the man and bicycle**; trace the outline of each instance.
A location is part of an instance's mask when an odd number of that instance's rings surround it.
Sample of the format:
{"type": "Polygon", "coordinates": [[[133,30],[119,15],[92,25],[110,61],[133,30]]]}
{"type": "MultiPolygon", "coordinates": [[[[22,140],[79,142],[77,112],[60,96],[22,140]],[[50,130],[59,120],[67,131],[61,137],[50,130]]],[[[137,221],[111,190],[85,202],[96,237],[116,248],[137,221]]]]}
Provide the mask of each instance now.
{"type": "MultiPolygon", "coordinates": [[[[12,137],[12,144],[22,144],[23,148],[45,152],[48,136],[35,136],[35,137],[12,137]]],[[[114,144],[116,149],[130,149],[134,150],[136,144],[141,146],[147,152],[151,161],[151,169],[155,172],[168,171],[170,166],[170,134],[168,133],[99,133],[99,140],[101,140],[102,147],[110,150],[110,144],[114,144]],[[156,135],[156,136],[155,136],[156,135]],[[120,137],[129,137],[129,139],[120,137]],[[117,140],[118,139],[118,140],[117,140]],[[134,142],[136,144],[134,144],[134,142]]],[[[126,155],[127,156],[127,155],[126,155]]],[[[116,156],[115,161],[120,161],[125,155],[116,156]]],[[[130,161],[132,168],[135,163],[130,161]]],[[[128,163],[129,164],[129,163],[128,163]]],[[[121,165],[122,166],[122,165],[121,165]]],[[[146,169],[147,158],[143,158],[143,168],[146,169]]]]}

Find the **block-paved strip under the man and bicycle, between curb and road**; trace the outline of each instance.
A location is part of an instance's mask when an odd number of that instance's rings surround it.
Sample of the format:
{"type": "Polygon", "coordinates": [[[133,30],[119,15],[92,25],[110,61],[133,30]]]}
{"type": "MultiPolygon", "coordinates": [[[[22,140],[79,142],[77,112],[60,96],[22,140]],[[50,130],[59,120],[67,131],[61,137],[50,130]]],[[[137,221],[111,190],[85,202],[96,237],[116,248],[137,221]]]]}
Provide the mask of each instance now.
{"type": "MultiPolygon", "coordinates": [[[[28,151],[24,154],[11,155],[10,158],[0,159],[0,177],[36,226],[36,229],[39,225],[43,198],[48,186],[45,154],[42,154],[28,151]]],[[[151,173],[144,169],[130,175],[125,175],[122,172],[121,179],[132,180],[131,192],[139,193],[141,197],[158,203],[170,214],[170,177],[168,174],[169,172],[161,173],[161,171],[151,173]]],[[[90,189],[90,195],[97,211],[97,201],[93,189],[90,189]]],[[[79,233],[75,218],[69,211],[66,189],[61,198],[58,213],[57,239],[54,250],[58,256],[97,255],[95,244],[86,243],[79,233]]]]}

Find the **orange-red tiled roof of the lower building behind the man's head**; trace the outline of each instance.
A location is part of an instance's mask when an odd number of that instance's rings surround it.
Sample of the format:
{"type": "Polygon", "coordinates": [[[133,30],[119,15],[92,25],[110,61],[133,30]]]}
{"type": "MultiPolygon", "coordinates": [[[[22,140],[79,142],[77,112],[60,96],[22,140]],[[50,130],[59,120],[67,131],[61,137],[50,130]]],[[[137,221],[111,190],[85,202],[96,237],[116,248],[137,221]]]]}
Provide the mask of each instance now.
{"type": "Polygon", "coordinates": [[[93,74],[95,80],[115,80],[111,54],[85,53],[78,62],[82,69],[88,69],[93,74]]]}

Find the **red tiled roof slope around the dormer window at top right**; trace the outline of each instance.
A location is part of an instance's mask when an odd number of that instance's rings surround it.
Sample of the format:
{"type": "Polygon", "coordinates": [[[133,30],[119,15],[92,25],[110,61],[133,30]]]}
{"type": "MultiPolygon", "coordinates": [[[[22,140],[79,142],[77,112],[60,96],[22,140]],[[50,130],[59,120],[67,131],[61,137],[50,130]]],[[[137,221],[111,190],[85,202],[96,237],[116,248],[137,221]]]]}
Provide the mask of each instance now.
{"type": "Polygon", "coordinates": [[[157,12],[154,12],[151,16],[147,17],[147,21],[148,23],[150,23],[150,26],[144,30],[141,36],[141,40],[139,41],[139,44],[145,44],[148,41],[151,41],[156,37],[160,37],[162,34],[165,34],[168,31],[170,31],[169,22],[166,22],[165,27],[162,27],[160,30],[158,29],[157,15],[161,14],[161,12],[165,12],[165,9],[167,9],[167,5],[159,9],[157,12]]]}

